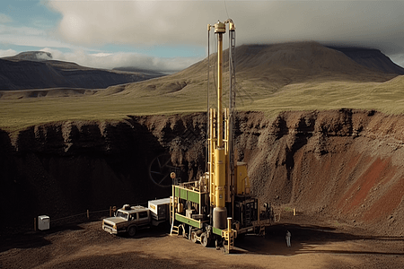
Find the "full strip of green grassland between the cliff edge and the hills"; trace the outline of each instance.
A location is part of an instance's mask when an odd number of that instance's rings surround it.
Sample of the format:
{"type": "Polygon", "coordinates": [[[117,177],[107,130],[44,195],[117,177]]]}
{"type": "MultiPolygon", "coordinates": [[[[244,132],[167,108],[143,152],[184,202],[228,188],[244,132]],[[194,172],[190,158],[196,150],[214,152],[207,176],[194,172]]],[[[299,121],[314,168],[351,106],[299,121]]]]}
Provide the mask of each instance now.
{"type": "MultiPolygon", "coordinates": [[[[189,82],[181,91],[169,93],[145,91],[139,85],[145,84],[132,84],[125,91],[110,95],[105,94],[108,92],[105,90],[94,95],[75,97],[0,99],[0,128],[16,131],[56,121],[115,120],[127,115],[206,111],[206,82],[203,82],[203,78],[189,82]]],[[[404,76],[387,82],[299,82],[280,87],[277,91],[269,83],[267,88],[264,85],[263,82],[240,82],[237,108],[263,111],[268,117],[288,110],[338,108],[404,113],[404,76]]],[[[210,102],[213,103],[213,87],[211,91],[210,102]]],[[[226,98],[224,102],[227,104],[226,98]]]]}

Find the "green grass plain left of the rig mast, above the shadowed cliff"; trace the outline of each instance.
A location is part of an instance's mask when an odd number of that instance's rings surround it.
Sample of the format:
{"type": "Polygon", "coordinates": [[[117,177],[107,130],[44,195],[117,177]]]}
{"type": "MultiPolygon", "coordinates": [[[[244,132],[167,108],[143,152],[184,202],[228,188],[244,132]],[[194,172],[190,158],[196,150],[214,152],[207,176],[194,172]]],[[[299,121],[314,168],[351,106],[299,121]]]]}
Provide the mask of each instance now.
{"type": "Polygon", "coordinates": [[[27,126],[66,120],[112,120],[127,115],[204,111],[196,100],[170,97],[82,96],[0,100],[0,128],[15,131],[27,126]],[[194,104],[193,106],[191,104],[194,104]]]}

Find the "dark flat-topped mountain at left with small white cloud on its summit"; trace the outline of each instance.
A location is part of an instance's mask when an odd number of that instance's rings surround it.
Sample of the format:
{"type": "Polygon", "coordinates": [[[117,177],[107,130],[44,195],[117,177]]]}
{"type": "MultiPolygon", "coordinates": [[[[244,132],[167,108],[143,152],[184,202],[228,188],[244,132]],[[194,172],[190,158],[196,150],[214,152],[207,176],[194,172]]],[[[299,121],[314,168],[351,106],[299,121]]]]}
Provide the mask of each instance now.
{"type": "Polygon", "coordinates": [[[53,60],[50,53],[41,51],[0,58],[0,91],[48,88],[105,89],[111,85],[139,82],[161,75],[85,67],[53,60]]]}

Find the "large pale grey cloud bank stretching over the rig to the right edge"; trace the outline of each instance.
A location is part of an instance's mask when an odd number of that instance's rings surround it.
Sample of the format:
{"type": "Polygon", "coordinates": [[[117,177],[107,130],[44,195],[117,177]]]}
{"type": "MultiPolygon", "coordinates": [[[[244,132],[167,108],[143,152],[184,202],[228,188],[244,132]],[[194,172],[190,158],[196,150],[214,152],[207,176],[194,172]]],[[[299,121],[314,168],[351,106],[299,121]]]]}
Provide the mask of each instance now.
{"type": "Polygon", "coordinates": [[[206,24],[233,19],[237,44],[316,40],[404,51],[403,1],[51,1],[66,41],[205,44],[206,24]]]}

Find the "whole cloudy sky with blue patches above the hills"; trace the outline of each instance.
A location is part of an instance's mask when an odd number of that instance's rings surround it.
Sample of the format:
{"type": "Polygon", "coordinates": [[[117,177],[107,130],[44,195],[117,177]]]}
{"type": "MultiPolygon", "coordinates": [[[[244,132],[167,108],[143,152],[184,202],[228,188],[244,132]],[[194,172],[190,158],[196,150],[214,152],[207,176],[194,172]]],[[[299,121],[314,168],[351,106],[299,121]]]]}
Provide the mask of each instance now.
{"type": "Polygon", "coordinates": [[[381,0],[2,0],[0,57],[40,50],[90,67],[174,72],[207,56],[208,23],[232,18],[237,46],[313,40],[377,48],[404,66],[403,14],[404,1],[381,0]]]}

